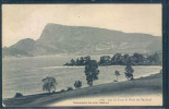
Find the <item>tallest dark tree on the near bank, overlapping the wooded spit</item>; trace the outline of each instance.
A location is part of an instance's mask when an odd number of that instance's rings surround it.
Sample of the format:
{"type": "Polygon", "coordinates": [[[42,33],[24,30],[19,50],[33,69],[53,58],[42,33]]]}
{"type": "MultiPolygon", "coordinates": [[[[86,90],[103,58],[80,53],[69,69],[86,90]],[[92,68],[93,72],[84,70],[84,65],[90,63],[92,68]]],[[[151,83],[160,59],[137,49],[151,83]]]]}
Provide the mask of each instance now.
{"type": "Polygon", "coordinates": [[[89,86],[93,85],[93,81],[98,80],[99,70],[98,63],[95,60],[89,60],[85,65],[86,81],[89,86]]]}

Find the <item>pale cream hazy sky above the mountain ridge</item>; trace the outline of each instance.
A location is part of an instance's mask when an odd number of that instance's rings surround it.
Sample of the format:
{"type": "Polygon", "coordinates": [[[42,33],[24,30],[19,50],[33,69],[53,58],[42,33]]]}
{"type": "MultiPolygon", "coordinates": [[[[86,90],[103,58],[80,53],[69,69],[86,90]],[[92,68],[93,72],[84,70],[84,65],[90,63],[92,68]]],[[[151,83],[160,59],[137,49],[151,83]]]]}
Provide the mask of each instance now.
{"type": "Polygon", "coordinates": [[[160,4],[3,4],[2,46],[38,39],[47,23],[161,36],[160,4]]]}

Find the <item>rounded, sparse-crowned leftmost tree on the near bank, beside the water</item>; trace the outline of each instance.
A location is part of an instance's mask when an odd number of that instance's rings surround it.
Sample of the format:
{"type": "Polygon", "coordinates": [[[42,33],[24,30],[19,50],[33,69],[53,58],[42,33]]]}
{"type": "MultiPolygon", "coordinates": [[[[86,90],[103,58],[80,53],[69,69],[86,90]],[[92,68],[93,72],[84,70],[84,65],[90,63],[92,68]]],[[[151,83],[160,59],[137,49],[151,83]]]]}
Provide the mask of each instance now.
{"type": "Polygon", "coordinates": [[[55,77],[43,78],[43,82],[44,82],[43,90],[46,90],[49,93],[50,90],[56,90],[57,81],[55,77]]]}

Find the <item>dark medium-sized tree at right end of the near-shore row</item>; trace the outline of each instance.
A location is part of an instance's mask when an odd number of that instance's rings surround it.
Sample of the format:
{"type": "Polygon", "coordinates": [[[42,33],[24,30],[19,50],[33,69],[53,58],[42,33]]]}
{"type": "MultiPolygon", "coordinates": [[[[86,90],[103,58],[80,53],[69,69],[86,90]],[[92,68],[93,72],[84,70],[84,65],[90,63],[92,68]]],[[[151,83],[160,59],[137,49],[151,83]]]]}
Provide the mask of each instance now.
{"type": "Polygon", "coordinates": [[[126,77],[128,80],[130,80],[130,81],[133,80],[133,72],[134,72],[134,70],[132,69],[131,65],[126,65],[126,66],[125,66],[125,72],[124,72],[124,74],[125,74],[125,77],[126,77]]]}

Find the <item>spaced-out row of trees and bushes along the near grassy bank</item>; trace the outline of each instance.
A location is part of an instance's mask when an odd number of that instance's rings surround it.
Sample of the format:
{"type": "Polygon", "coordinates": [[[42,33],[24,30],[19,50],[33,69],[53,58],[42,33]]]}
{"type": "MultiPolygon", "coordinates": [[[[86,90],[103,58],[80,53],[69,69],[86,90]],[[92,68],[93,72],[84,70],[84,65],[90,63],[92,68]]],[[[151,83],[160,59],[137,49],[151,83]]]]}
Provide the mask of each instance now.
{"type": "MultiPolygon", "coordinates": [[[[131,65],[126,65],[124,71],[125,71],[124,72],[125,77],[129,81],[132,81],[133,80],[133,72],[134,72],[132,66],[131,65]]],[[[88,60],[86,62],[84,73],[86,75],[87,84],[89,86],[93,86],[93,82],[95,80],[98,80],[98,74],[99,74],[98,62],[95,61],[95,60],[88,60]]],[[[114,75],[117,76],[117,80],[114,82],[118,82],[118,76],[120,75],[120,72],[116,71],[114,75]]],[[[46,77],[46,78],[43,80],[43,83],[44,83],[43,90],[46,90],[46,92],[49,92],[49,93],[51,90],[56,90],[56,85],[57,85],[56,78],[53,78],[53,77],[46,77]]],[[[80,88],[81,86],[82,86],[82,82],[81,81],[75,81],[74,82],[74,87],[75,88],[80,88]]],[[[73,89],[72,87],[68,87],[68,90],[72,90],[72,89],[73,89]]],[[[62,89],[61,93],[62,92],[64,92],[64,89],[62,89]]]]}

